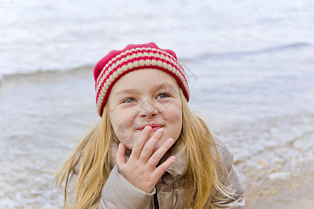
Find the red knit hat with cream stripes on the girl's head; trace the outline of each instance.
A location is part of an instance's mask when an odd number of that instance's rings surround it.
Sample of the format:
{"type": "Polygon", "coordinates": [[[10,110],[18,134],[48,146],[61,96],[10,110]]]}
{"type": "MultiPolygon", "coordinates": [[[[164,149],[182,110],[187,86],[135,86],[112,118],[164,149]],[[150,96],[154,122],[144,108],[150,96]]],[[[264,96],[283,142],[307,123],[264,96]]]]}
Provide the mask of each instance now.
{"type": "Polygon", "coordinates": [[[177,55],[170,49],[160,49],[154,42],[143,45],[128,45],[122,50],[112,50],[96,63],[94,68],[96,107],[98,115],[103,116],[112,86],[128,72],[143,68],[163,70],[177,80],[186,100],[190,98],[184,68],[177,55]]]}

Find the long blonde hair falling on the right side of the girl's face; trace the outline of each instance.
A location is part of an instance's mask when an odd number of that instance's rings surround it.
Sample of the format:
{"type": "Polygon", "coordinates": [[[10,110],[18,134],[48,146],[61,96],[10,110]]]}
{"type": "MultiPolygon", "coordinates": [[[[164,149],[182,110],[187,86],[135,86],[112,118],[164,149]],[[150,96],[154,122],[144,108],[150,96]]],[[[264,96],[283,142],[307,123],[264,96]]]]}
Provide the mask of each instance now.
{"type": "MultiPolygon", "coordinates": [[[[180,91],[181,92],[181,91],[180,91]]],[[[207,124],[190,111],[186,98],[181,94],[183,127],[181,132],[181,142],[184,143],[188,158],[188,171],[184,184],[187,206],[192,208],[204,208],[208,205],[214,208],[211,200],[218,199],[215,192],[220,192],[227,197],[231,197],[227,188],[220,183],[218,173],[221,178],[227,175],[225,165],[220,164],[220,157],[216,147],[216,141],[211,135],[207,124]],[[215,152],[211,153],[211,148],[215,152]]]]}

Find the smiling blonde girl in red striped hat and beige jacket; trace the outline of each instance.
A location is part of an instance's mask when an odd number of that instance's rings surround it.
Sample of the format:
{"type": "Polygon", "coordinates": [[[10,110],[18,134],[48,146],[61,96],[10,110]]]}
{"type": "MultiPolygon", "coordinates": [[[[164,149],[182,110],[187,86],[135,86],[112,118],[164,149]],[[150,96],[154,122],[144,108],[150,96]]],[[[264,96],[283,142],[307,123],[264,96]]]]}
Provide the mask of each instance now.
{"type": "Polygon", "coordinates": [[[172,50],[114,50],[94,78],[102,120],[57,173],[64,208],[245,208],[232,155],[190,111],[172,50]]]}

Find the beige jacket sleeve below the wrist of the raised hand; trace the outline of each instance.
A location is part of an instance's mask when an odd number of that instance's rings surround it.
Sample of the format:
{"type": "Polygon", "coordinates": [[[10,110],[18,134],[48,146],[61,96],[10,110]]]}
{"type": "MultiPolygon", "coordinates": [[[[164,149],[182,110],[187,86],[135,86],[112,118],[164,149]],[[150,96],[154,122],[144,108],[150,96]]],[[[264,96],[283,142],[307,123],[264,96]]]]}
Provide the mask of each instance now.
{"type": "Polygon", "coordinates": [[[151,193],[138,189],[119,173],[117,164],[103,186],[99,209],[107,208],[142,208],[148,209],[156,190],[151,193]]]}

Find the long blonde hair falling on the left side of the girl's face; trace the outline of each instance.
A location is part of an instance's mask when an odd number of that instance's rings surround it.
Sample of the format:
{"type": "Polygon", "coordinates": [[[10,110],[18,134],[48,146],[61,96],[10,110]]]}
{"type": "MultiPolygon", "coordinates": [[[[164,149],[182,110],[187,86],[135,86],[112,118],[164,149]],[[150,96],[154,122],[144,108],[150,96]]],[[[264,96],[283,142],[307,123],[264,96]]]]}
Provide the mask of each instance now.
{"type": "Polygon", "coordinates": [[[97,208],[103,185],[113,168],[110,153],[114,136],[110,123],[107,105],[104,108],[103,119],[80,141],[70,158],[64,162],[55,176],[57,186],[62,189],[64,183],[64,208],[97,208]],[[70,173],[80,161],[74,201],[66,207],[70,173]]]}

